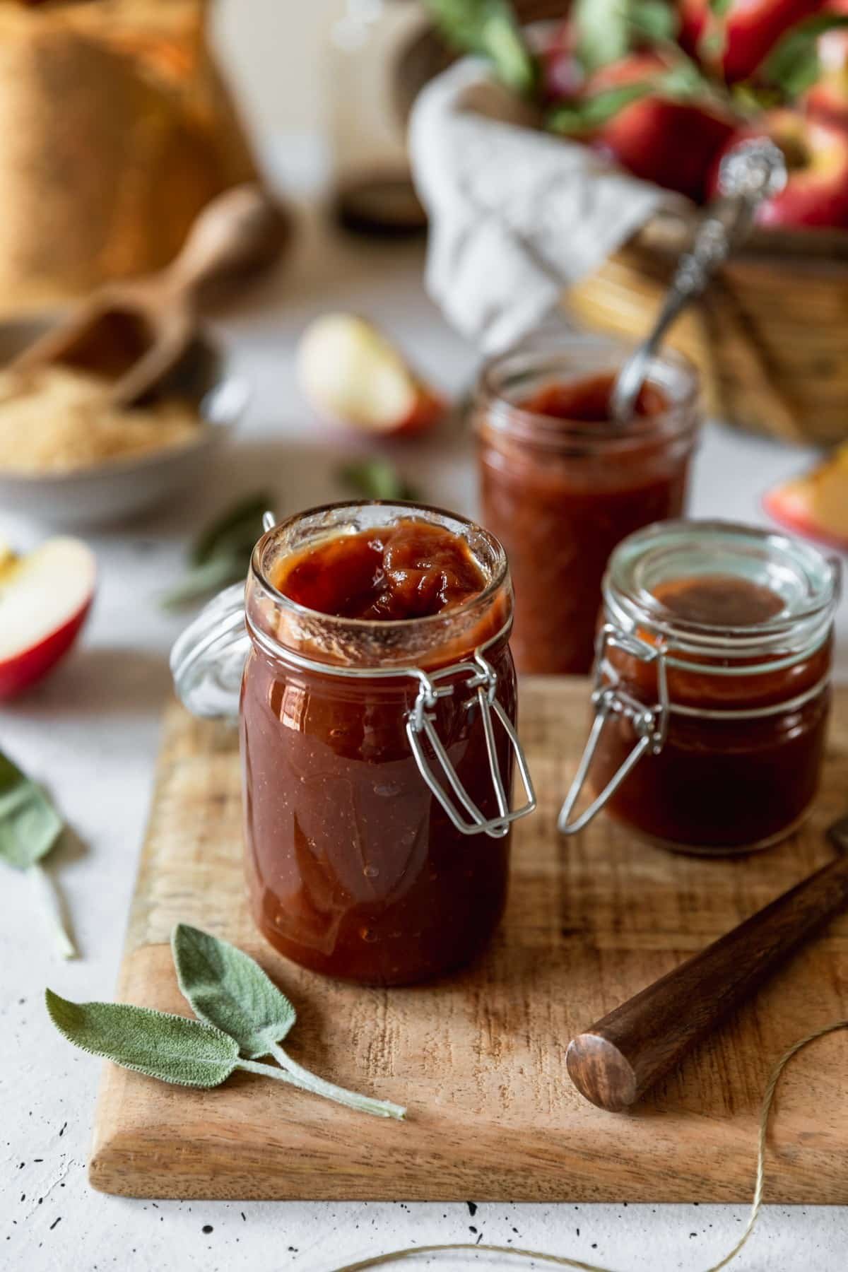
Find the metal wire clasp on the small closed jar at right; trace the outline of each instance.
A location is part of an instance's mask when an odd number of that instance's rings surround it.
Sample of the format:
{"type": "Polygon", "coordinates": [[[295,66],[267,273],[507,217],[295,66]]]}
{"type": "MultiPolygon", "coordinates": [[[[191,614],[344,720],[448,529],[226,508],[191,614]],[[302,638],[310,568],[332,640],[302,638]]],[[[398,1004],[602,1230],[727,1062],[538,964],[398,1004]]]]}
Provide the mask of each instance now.
{"type": "Polygon", "coordinates": [[[595,720],[586,739],[575,780],[571,784],[557,819],[557,829],[562,834],[577,834],[578,831],[589,826],[595,814],[615,794],[624,778],[636,768],[642,756],[648,752],[656,756],[662,750],[669,728],[669,679],[665,647],[662,645],[650,645],[632,632],[623,632],[612,623],[605,623],[598,633],[595,645],[595,683],[591,701],[595,707],[595,720]],[[638,698],[634,698],[626,689],[620,688],[619,675],[606,658],[609,649],[620,649],[631,658],[638,658],[642,663],[656,664],[657,702],[653,706],[646,706],[645,702],[639,702],[638,698]],[[613,773],[600,795],[572,822],[571,814],[584,789],[600,736],[608,720],[615,715],[631,720],[638,742],[613,773]]]}

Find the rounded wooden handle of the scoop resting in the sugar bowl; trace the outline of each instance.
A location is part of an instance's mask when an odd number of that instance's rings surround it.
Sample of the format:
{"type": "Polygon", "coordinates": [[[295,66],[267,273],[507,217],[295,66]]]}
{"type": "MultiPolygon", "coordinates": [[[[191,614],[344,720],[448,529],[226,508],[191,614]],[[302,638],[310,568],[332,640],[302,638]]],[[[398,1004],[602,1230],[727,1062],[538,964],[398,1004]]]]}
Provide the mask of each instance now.
{"type": "Polygon", "coordinates": [[[225,191],[203,209],[165,272],[172,301],[197,300],[273,265],[290,233],[289,215],[259,186],[225,191]]]}

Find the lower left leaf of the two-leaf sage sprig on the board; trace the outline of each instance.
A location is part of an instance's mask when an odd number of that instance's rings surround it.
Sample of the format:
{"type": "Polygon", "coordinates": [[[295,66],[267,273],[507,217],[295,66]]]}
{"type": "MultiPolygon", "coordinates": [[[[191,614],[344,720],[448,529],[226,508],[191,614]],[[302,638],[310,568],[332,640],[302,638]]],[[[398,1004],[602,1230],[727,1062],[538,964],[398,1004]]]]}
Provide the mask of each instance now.
{"type": "Polygon", "coordinates": [[[44,991],[50,1019],[81,1051],[178,1086],[220,1086],[236,1067],[234,1038],[186,1016],[125,1002],[69,1002],[44,991]]]}

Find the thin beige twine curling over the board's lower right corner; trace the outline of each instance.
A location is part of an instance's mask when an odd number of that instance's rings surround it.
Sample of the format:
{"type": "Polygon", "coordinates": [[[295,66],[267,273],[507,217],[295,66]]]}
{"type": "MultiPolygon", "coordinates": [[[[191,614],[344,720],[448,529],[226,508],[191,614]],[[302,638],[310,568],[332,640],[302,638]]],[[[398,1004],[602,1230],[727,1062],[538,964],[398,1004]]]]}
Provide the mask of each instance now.
{"type": "MultiPolygon", "coordinates": [[[[756,1179],[754,1183],[754,1196],[751,1198],[751,1208],[748,1216],[748,1224],[745,1225],[745,1231],[730,1253],[725,1254],[718,1263],[711,1264],[711,1267],[706,1268],[704,1272],[721,1272],[721,1268],[727,1267],[727,1264],[736,1258],[754,1231],[754,1225],[756,1224],[756,1217],[763,1205],[763,1184],[765,1182],[765,1140],[772,1103],[774,1100],[774,1091],[781,1079],[781,1074],[804,1047],[815,1042],[817,1038],[824,1038],[825,1034],[835,1033],[838,1029],[848,1029],[848,1019],[834,1020],[829,1025],[814,1029],[812,1033],[809,1033],[806,1037],[792,1043],[792,1046],[783,1052],[781,1058],[774,1065],[769,1080],[765,1084],[763,1103],[760,1104],[759,1135],[756,1145],[756,1179]]],[[[389,1250],[385,1254],[370,1255],[369,1258],[360,1259],[357,1263],[346,1263],[343,1267],[333,1268],[332,1272],[366,1272],[367,1268],[385,1267],[388,1263],[399,1263],[402,1259],[409,1259],[416,1255],[444,1254],[459,1250],[473,1250],[474,1253],[484,1250],[488,1254],[506,1254],[515,1259],[534,1259],[537,1263],[548,1263],[563,1268],[577,1268],[578,1272],[613,1272],[612,1268],[604,1267],[600,1263],[584,1263],[582,1259],[572,1259],[564,1254],[551,1254],[547,1250],[525,1250],[516,1245],[486,1245],[483,1243],[473,1245],[470,1241],[458,1241],[445,1245],[409,1245],[404,1249],[389,1250]]]]}

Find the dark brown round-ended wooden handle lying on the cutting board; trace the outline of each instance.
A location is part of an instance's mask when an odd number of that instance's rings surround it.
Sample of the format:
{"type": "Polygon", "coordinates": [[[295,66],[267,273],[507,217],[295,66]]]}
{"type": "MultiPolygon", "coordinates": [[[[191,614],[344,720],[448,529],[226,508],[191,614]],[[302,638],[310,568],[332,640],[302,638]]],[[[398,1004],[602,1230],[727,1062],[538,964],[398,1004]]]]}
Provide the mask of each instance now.
{"type": "Polygon", "coordinates": [[[573,1038],[577,1090],[613,1113],[634,1104],[845,904],[848,857],[838,857],[573,1038]]]}

